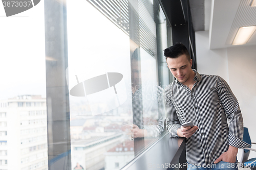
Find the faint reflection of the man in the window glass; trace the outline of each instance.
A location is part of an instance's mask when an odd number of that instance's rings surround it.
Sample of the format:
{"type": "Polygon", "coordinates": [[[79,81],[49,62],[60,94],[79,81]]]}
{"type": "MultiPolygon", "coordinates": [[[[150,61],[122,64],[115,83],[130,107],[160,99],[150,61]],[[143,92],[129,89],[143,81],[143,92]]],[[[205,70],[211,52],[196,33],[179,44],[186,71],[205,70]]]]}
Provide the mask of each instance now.
{"type": "MultiPolygon", "coordinates": [[[[135,138],[156,138],[164,130],[163,89],[141,80],[140,48],[131,57],[133,128],[135,138]],[[156,118],[157,117],[157,118],[156,118]]],[[[138,139],[139,140],[139,139],[138,139]]]]}

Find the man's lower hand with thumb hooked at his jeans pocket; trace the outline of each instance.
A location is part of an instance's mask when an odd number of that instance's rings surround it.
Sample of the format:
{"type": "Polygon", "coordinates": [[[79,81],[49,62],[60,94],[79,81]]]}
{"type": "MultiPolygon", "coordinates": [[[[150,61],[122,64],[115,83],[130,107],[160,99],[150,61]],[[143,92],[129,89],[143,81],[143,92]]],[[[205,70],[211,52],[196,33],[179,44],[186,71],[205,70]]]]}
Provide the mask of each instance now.
{"type": "Polygon", "coordinates": [[[234,163],[237,161],[236,160],[237,154],[238,154],[238,148],[232,147],[229,145],[227,152],[224,152],[223,154],[221,154],[221,156],[218,159],[216,159],[214,163],[215,164],[219,163],[221,160],[224,162],[234,163]]]}

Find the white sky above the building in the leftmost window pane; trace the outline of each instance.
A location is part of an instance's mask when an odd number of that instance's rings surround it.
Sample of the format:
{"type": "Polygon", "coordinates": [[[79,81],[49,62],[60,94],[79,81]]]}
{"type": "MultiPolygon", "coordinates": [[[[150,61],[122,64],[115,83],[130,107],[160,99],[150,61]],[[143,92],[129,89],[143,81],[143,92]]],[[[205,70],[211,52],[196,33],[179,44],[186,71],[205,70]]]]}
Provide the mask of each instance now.
{"type": "Polygon", "coordinates": [[[44,1],[6,17],[0,4],[0,99],[46,96],[44,1]]]}

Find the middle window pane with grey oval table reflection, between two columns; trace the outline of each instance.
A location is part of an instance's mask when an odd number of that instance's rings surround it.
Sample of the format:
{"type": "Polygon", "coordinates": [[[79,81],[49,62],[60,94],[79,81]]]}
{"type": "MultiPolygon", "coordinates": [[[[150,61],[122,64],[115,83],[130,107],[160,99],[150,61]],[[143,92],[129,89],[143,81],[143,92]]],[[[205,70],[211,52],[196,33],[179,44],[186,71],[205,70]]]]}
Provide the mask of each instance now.
{"type": "Polygon", "coordinates": [[[131,130],[124,128],[133,124],[129,36],[88,2],[79,3],[67,3],[72,169],[121,168],[134,158],[131,130]],[[80,21],[84,16],[86,23],[80,21]],[[77,43],[78,37],[84,41],[77,43]],[[115,82],[111,73],[122,78],[115,82]],[[74,96],[71,90],[79,83],[85,94],[74,96]]]}

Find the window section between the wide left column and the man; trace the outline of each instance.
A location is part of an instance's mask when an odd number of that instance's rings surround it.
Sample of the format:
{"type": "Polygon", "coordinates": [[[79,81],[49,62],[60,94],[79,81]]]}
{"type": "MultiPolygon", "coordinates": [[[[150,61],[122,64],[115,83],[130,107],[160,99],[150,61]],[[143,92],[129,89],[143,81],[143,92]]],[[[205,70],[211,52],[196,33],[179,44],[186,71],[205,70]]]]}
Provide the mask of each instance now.
{"type": "Polygon", "coordinates": [[[164,130],[159,4],[117,2],[67,2],[72,169],[120,169],[164,130]]]}

